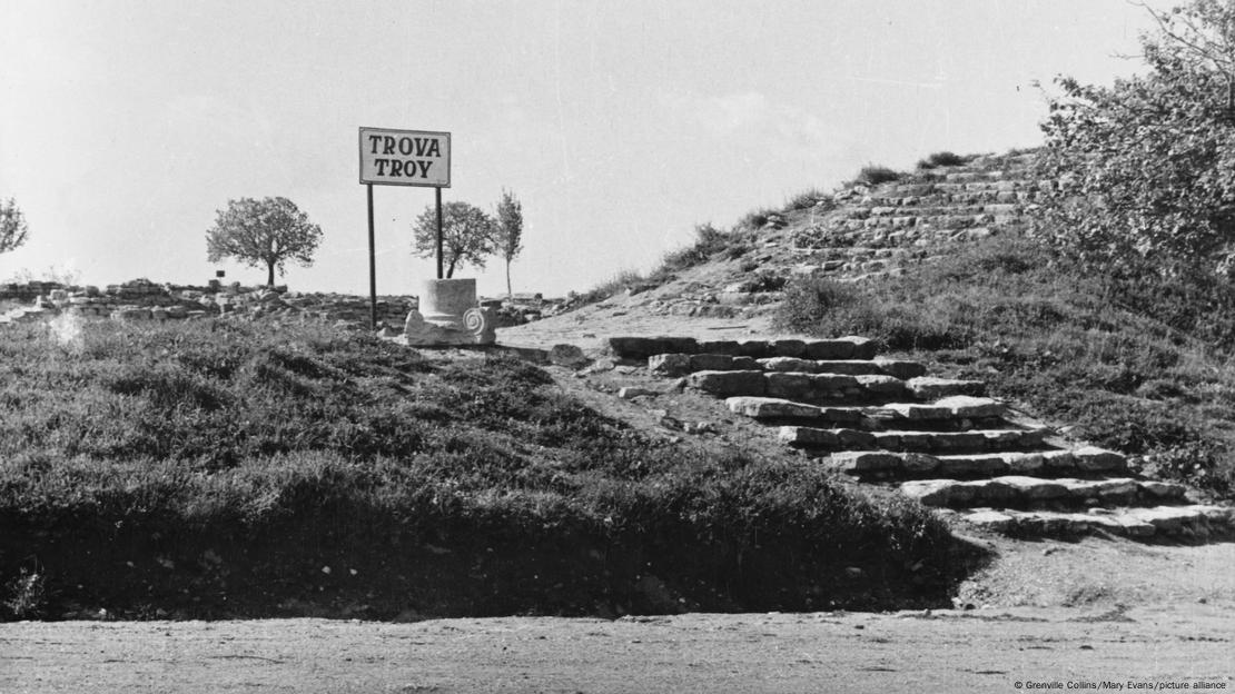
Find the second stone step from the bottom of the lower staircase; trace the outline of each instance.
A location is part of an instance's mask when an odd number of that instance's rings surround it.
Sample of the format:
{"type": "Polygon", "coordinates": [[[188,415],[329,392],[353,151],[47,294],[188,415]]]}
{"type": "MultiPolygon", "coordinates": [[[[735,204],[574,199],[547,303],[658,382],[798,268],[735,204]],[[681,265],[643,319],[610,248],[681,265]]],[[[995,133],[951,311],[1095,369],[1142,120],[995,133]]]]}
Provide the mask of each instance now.
{"type": "Polygon", "coordinates": [[[1044,479],[1028,475],[1003,475],[961,482],[956,479],[919,479],[900,483],[900,491],[926,506],[953,509],[990,506],[1031,509],[1110,504],[1142,506],[1181,500],[1187,489],[1170,482],[1132,478],[1044,479]]]}

